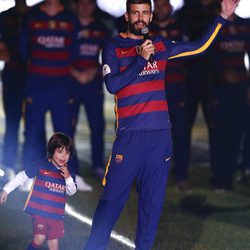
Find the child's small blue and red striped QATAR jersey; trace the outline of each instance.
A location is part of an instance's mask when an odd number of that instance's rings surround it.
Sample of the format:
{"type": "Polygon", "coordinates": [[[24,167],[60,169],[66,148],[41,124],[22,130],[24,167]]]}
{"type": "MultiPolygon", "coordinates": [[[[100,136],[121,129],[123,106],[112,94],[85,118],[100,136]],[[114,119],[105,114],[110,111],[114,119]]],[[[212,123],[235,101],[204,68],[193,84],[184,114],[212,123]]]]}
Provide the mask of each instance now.
{"type": "MultiPolygon", "coordinates": [[[[73,170],[69,167],[68,169],[74,179],[73,170]]],[[[34,182],[24,211],[62,220],[66,204],[66,185],[60,170],[47,159],[43,159],[26,168],[25,173],[29,178],[34,178],[34,182]]]]}

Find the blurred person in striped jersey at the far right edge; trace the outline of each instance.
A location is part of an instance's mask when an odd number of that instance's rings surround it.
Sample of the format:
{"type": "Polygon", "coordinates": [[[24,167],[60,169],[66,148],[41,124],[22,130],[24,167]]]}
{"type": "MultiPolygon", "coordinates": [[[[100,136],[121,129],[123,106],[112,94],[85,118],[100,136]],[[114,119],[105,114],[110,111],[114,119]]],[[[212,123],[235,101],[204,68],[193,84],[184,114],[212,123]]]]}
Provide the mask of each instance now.
{"type": "Polygon", "coordinates": [[[250,55],[249,32],[250,19],[233,14],[209,53],[211,184],[221,192],[233,188],[246,125],[250,100],[250,75],[245,64],[250,55]]]}

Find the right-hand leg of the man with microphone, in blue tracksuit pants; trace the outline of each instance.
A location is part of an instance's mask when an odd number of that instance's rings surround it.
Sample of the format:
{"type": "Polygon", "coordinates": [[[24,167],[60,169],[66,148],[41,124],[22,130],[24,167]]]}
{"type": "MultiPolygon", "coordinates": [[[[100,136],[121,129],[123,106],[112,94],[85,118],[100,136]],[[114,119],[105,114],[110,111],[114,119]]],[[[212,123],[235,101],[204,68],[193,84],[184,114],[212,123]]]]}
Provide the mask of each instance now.
{"type": "MultiPolygon", "coordinates": [[[[137,177],[138,222],[136,249],[151,249],[157,232],[172,155],[172,139],[168,130],[148,132],[145,164],[137,177]]],[[[145,142],[144,142],[145,143],[145,142]]]]}

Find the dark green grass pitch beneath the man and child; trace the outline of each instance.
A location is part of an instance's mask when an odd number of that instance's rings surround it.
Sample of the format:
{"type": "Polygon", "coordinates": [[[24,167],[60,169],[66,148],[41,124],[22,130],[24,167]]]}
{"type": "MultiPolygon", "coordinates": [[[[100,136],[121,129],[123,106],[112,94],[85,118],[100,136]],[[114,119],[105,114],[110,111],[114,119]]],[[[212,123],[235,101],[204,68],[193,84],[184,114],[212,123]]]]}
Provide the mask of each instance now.
{"type": "MultiPolygon", "coordinates": [[[[83,171],[85,179],[94,186],[93,192],[78,192],[68,203],[78,213],[92,218],[101,192],[101,185],[83,171]]],[[[175,190],[170,175],[168,191],[154,248],[156,250],[220,250],[250,249],[250,189],[249,184],[235,183],[232,192],[214,193],[210,189],[210,171],[207,167],[190,169],[192,194],[175,190]]],[[[0,207],[0,250],[23,250],[32,237],[31,219],[22,211],[27,193],[16,190],[7,204],[0,207]]],[[[134,239],[137,199],[133,188],[115,231],[134,239]]],[[[61,240],[62,250],[82,249],[90,233],[90,226],[76,218],[65,216],[66,236],[61,240]]],[[[46,245],[43,249],[47,249],[46,245]]],[[[109,248],[130,249],[111,239],[109,248]]]]}

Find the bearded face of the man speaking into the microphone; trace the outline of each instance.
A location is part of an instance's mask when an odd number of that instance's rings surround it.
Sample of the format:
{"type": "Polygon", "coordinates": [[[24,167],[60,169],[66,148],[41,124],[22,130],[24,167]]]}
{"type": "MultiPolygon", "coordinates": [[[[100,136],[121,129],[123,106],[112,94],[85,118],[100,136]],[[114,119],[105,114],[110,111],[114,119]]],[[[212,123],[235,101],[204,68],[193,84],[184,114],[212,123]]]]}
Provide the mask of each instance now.
{"type": "Polygon", "coordinates": [[[139,36],[141,29],[152,21],[152,12],[148,4],[131,4],[130,11],[125,14],[130,33],[139,36]]]}

